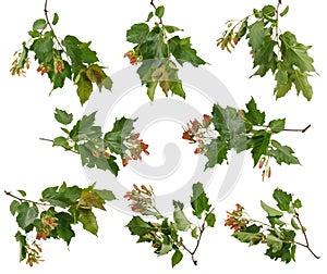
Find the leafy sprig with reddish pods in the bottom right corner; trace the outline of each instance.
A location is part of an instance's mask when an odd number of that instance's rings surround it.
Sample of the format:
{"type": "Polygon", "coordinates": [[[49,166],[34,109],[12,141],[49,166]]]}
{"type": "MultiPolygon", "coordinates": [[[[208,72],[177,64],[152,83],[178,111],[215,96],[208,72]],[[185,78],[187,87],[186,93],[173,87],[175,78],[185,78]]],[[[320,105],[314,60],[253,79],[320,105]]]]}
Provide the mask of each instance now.
{"type": "Polygon", "coordinates": [[[228,212],[225,225],[234,231],[232,236],[250,246],[266,245],[265,254],[272,260],[280,259],[284,263],[295,261],[296,246],[307,248],[315,258],[318,258],[310,248],[306,229],[299,216],[302,202],[279,188],[275,189],[272,197],[278,209],[261,201],[263,210],[268,214],[268,223],[251,219],[240,204],[237,204],[233,212],[228,212]],[[296,232],[303,234],[305,244],[295,240],[296,232]]]}

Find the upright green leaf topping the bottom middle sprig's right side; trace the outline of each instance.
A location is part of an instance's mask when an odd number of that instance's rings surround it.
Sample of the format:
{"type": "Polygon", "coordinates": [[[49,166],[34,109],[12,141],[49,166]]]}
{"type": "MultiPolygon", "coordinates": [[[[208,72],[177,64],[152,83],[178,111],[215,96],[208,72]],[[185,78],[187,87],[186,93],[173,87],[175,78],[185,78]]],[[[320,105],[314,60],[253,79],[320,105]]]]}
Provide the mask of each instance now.
{"type": "Polygon", "coordinates": [[[205,211],[209,211],[211,204],[209,204],[209,200],[201,183],[194,184],[192,189],[193,189],[193,195],[191,197],[191,205],[193,209],[192,213],[198,219],[201,219],[202,213],[205,211]]]}

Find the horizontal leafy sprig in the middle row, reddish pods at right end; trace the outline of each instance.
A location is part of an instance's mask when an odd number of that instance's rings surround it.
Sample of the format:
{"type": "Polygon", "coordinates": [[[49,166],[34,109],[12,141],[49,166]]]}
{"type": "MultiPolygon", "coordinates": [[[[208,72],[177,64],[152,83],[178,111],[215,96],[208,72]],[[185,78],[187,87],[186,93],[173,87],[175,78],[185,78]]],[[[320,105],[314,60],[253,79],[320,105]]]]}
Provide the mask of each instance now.
{"type": "Polygon", "coordinates": [[[125,166],[130,160],[142,160],[143,152],[149,153],[148,145],[140,139],[138,133],[133,133],[135,120],[116,120],[112,129],[104,135],[101,127],[94,125],[95,115],[96,112],[84,115],[69,130],[66,126],[73,122],[73,114],[56,109],[55,119],[63,125],[61,129],[65,136],[55,138],[53,146],[78,153],[83,165],[108,170],[114,176],[119,166],[113,154],[120,155],[125,166]]]}

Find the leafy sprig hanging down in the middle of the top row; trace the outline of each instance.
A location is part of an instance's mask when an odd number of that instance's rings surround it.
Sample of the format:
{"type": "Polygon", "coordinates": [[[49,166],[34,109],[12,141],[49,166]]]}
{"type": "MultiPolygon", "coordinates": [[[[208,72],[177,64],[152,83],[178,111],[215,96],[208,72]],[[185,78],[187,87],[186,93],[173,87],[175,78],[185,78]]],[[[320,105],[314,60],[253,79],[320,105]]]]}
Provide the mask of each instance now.
{"type": "Polygon", "coordinates": [[[172,95],[185,98],[185,91],[178,75],[177,62],[180,65],[190,63],[195,67],[206,64],[206,62],[192,48],[190,37],[172,36],[182,29],[164,24],[165,7],[156,8],[153,2],[152,4],[155,12],[148,14],[147,21],[134,24],[126,32],[126,40],[136,46],[126,52],[125,57],[130,59],[131,64],[141,63],[137,74],[142,85],[146,85],[147,96],[150,100],[154,100],[158,85],[166,96],[170,90],[172,95]],[[155,22],[154,26],[149,26],[153,17],[156,17],[158,22],[155,22]]]}

